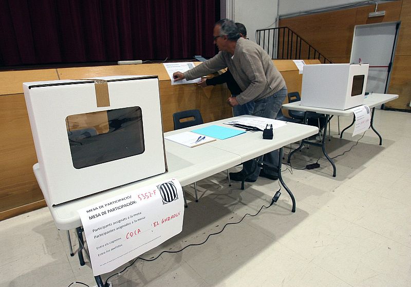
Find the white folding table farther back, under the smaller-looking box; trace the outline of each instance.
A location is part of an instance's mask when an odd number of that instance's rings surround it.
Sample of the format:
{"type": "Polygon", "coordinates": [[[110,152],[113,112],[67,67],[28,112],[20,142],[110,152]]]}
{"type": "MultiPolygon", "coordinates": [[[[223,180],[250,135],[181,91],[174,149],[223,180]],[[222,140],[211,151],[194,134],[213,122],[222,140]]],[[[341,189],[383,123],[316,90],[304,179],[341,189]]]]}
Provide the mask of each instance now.
{"type": "MultiPolygon", "coordinates": [[[[394,99],[398,98],[398,94],[384,94],[384,93],[372,93],[372,94],[368,94],[367,98],[364,99],[364,105],[368,106],[369,108],[372,108],[372,113],[371,113],[371,122],[370,122],[370,127],[371,129],[377,134],[377,136],[380,138],[380,145],[382,145],[382,138],[380,133],[375,129],[375,127],[373,126],[373,119],[374,119],[374,112],[375,112],[375,108],[377,106],[380,106],[386,102],[392,101],[394,99]]],[[[331,163],[332,168],[333,168],[333,174],[332,176],[335,177],[337,175],[337,168],[335,167],[334,162],[332,161],[332,159],[328,156],[327,151],[325,150],[325,138],[326,138],[326,133],[327,133],[327,125],[329,125],[329,121],[331,120],[331,118],[333,116],[343,116],[343,117],[348,117],[348,116],[353,116],[353,120],[352,123],[347,126],[346,128],[344,128],[341,131],[341,135],[340,138],[343,137],[343,133],[344,131],[351,127],[354,122],[356,121],[356,117],[354,116],[354,112],[352,111],[352,109],[347,109],[347,110],[336,110],[336,109],[329,109],[329,108],[317,108],[317,107],[308,107],[308,106],[302,106],[301,105],[301,101],[298,102],[293,102],[293,103],[288,103],[288,104],[284,104],[283,108],[286,108],[288,110],[300,110],[300,111],[305,111],[307,114],[307,111],[313,111],[316,113],[321,113],[321,114],[325,114],[325,126],[324,126],[324,134],[323,134],[323,140],[321,141],[321,143],[314,143],[314,142],[310,142],[308,140],[303,140],[301,141],[300,146],[298,146],[296,149],[294,149],[292,152],[290,152],[290,154],[288,155],[288,160],[287,162],[290,162],[290,158],[291,156],[294,154],[294,152],[300,150],[304,144],[309,144],[309,145],[315,145],[315,146],[321,146],[322,150],[323,150],[323,154],[324,156],[328,159],[328,161],[331,163]]],[[[304,122],[306,122],[306,119],[304,119],[304,122]]]]}

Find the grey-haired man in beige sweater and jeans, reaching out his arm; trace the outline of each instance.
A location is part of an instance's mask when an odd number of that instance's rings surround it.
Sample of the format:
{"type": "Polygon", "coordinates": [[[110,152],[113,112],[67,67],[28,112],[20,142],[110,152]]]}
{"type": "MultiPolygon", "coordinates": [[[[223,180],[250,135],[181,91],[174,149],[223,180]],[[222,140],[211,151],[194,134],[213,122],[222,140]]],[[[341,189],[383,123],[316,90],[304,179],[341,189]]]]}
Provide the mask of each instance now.
{"type": "MultiPolygon", "coordinates": [[[[191,70],[175,72],[174,81],[196,79],[228,67],[242,92],[228,98],[227,103],[234,107],[253,101],[253,116],[275,119],[287,95],[287,87],[270,56],[254,42],[242,39],[231,20],[218,21],[213,36],[219,53],[191,70]]],[[[265,154],[263,160],[277,166],[278,157],[279,152],[275,150],[265,154]]],[[[248,182],[255,182],[258,175],[273,180],[278,178],[278,170],[266,167],[259,170],[255,164],[253,160],[245,162],[239,173],[230,173],[230,178],[235,181],[245,178],[248,182]]]]}

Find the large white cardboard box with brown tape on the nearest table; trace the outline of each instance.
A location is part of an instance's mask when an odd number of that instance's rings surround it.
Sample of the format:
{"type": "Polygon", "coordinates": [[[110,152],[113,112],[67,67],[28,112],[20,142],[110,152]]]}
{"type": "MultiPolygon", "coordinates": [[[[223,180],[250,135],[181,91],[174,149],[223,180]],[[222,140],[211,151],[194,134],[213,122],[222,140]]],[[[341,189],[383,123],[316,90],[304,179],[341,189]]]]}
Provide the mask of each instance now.
{"type": "Polygon", "coordinates": [[[48,204],[165,173],[157,76],[23,83],[48,204]]]}

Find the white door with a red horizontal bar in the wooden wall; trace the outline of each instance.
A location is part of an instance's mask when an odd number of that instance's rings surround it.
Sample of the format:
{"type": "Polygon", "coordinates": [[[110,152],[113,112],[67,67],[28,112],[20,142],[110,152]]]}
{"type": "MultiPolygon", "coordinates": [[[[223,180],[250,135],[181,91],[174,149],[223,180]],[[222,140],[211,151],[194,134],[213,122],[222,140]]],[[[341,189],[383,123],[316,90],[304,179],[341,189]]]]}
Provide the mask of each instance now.
{"type": "Polygon", "coordinates": [[[400,22],[357,25],[350,63],[369,63],[367,92],[386,93],[400,22]]]}

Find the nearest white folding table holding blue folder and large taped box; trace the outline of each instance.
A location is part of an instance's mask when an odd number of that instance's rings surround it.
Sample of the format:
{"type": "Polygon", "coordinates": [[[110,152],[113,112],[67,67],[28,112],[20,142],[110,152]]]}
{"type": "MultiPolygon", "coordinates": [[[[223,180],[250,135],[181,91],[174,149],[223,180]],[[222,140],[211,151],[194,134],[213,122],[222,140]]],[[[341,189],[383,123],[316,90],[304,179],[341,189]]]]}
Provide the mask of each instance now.
{"type": "MultiPolygon", "coordinates": [[[[250,117],[250,116],[248,116],[250,117]]],[[[228,122],[237,119],[230,118],[226,120],[215,121],[198,125],[195,127],[189,127],[185,129],[174,130],[164,133],[164,136],[173,135],[182,131],[193,130],[209,125],[221,125],[230,128],[223,122],[228,122]]],[[[238,129],[238,128],[235,128],[238,129]]],[[[82,235],[82,223],[78,210],[97,202],[109,199],[111,197],[119,196],[124,193],[128,193],[133,189],[140,188],[146,185],[166,180],[169,178],[176,178],[179,180],[182,186],[194,183],[201,179],[212,176],[220,171],[226,170],[230,167],[234,167],[241,164],[244,161],[257,158],[266,154],[269,151],[275,149],[281,149],[280,157],[278,161],[278,175],[284,188],[289,193],[293,206],[292,212],[295,212],[295,200],[287,185],[284,183],[281,176],[281,160],[282,160],[282,148],[290,143],[305,139],[309,136],[315,135],[318,132],[318,128],[314,126],[287,123],[285,126],[274,130],[274,138],[272,140],[263,140],[261,131],[246,132],[241,135],[225,139],[216,140],[207,144],[199,145],[196,147],[186,147],[181,144],[164,140],[166,160],[168,172],[158,176],[154,176],[148,179],[140,180],[134,183],[130,183],[124,186],[116,187],[104,192],[90,195],[85,198],[74,200],[58,206],[50,204],[48,198],[45,196],[46,203],[49,207],[51,216],[55,222],[57,228],[62,230],[69,230],[76,228],[79,237],[79,244],[83,246],[84,240],[82,235]]],[[[47,194],[45,181],[41,176],[39,164],[36,163],[33,166],[34,175],[39,182],[40,188],[43,190],[43,194],[47,194]]],[[[244,181],[242,182],[244,188],[244,181]]],[[[73,188],[79,188],[73,185],[73,188]]],[[[84,265],[84,258],[81,249],[79,250],[80,264],[84,265]]],[[[96,276],[97,285],[103,286],[103,282],[100,276],[96,276]]]]}

